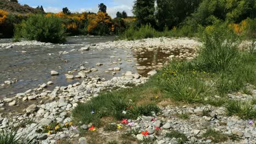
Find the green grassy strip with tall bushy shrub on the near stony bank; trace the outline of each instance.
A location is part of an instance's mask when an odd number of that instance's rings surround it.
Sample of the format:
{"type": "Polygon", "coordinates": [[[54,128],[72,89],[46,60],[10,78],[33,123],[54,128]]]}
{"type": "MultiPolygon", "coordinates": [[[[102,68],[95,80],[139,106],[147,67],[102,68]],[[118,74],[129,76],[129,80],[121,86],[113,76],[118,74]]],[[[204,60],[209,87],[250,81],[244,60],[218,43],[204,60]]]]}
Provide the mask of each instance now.
{"type": "Polygon", "coordinates": [[[192,61],[171,61],[144,85],[102,92],[73,110],[74,121],[101,127],[106,117],[136,119],[157,114],[158,106],[168,104],[224,106],[229,116],[256,119],[251,101],[228,97],[249,93],[256,85],[256,53],[238,50],[240,38],[222,24],[201,35],[202,47],[192,61]]]}

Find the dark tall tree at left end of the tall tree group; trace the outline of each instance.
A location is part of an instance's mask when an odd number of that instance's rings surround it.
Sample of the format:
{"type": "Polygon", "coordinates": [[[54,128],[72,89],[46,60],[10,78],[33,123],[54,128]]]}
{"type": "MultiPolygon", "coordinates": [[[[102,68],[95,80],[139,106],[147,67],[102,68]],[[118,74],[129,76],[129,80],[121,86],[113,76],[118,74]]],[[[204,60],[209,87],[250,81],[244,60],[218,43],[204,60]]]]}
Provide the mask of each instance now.
{"type": "Polygon", "coordinates": [[[155,0],[137,0],[133,5],[133,14],[137,17],[137,24],[146,25],[149,23],[155,27],[155,0]]]}

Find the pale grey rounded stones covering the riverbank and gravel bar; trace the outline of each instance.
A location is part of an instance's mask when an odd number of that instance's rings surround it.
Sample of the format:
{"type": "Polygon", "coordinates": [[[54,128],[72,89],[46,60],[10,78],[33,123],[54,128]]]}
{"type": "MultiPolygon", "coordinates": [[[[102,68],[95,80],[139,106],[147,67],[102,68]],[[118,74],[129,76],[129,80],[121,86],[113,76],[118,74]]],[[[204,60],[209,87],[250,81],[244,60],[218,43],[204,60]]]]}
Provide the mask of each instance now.
{"type": "MultiPolygon", "coordinates": [[[[191,59],[196,56],[197,48],[201,44],[193,39],[170,39],[170,38],[154,38],[135,41],[113,41],[100,44],[92,44],[82,47],[80,51],[101,50],[110,48],[132,49],[138,54],[136,69],[138,71],[149,70],[147,75],[154,75],[156,71],[163,67],[172,58],[191,59]],[[147,62],[148,52],[161,52],[167,54],[165,63],[157,60],[147,62]],[[141,56],[141,57],[139,57],[141,56]],[[145,64],[146,61],[146,64],[145,64]],[[141,62],[141,63],[139,63],[141,62]],[[144,65],[142,65],[144,63],[144,65]]],[[[6,47],[8,45],[4,45],[6,47]]],[[[113,58],[115,58],[113,56],[113,58]]],[[[130,61],[131,58],[127,58],[130,61]]],[[[115,61],[113,61],[115,62],[115,61]]],[[[118,61],[117,61],[118,62],[118,61]]],[[[102,63],[96,63],[97,67],[101,67],[102,63]]],[[[118,73],[119,67],[106,69],[105,73],[118,73]],[[112,71],[112,72],[110,72],[112,71]],[[115,71],[115,72],[114,72],[115,71]]],[[[0,105],[13,106],[16,103],[27,103],[27,101],[36,100],[37,104],[31,104],[26,109],[16,115],[0,118],[0,128],[8,128],[10,124],[19,125],[27,122],[24,127],[18,131],[19,134],[27,135],[28,139],[34,139],[38,143],[57,143],[60,140],[71,140],[73,143],[86,143],[88,137],[83,135],[81,131],[88,130],[92,125],[80,123],[81,126],[72,124],[71,111],[78,106],[78,103],[86,103],[93,97],[97,97],[101,91],[112,91],[112,89],[127,88],[130,86],[142,85],[148,78],[142,77],[139,73],[126,71],[123,76],[113,77],[111,80],[105,81],[101,77],[88,77],[87,72],[95,72],[96,68],[85,68],[81,66],[77,75],[68,73],[66,79],[74,79],[75,77],[83,78],[82,82],[73,83],[68,86],[57,86],[53,91],[46,89],[50,82],[44,83],[38,88],[31,88],[24,93],[16,94],[14,98],[4,98],[0,101],[0,105]],[[23,101],[23,102],[22,102],[23,101]],[[63,127],[57,133],[47,131],[42,132],[45,127],[50,127],[52,123],[59,123],[59,127],[63,127]],[[66,127],[65,127],[66,126],[66,127]],[[70,126],[70,127],[69,127],[70,126]]],[[[49,72],[50,73],[50,72],[49,72]]],[[[56,71],[51,71],[51,75],[57,75],[56,71]]],[[[5,83],[7,85],[9,82],[5,83]]],[[[247,94],[229,94],[230,99],[252,100],[256,96],[256,91],[252,95],[247,94]]],[[[217,97],[217,96],[216,96],[217,97]]],[[[155,113],[152,117],[142,116],[137,119],[127,119],[125,123],[119,124],[119,128],[115,132],[104,131],[103,128],[96,129],[97,136],[102,139],[103,143],[113,140],[118,143],[123,142],[119,137],[121,135],[131,135],[137,141],[148,140],[155,143],[178,143],[182,136],[167,136],[170,131],[179,131],[187,137],[191,143],[216,143],[210,136],[204,136],[207,130],[213,129],[220,131],[224,139],[232,137],[224,143],[255,143],[256,128],[253,122],[242,120],[238,117],[229,117],[225,113],[224,107],[214,107],[211,105],[170,105],[167,103],[159,104],[161,111],[155,113]],[[132,131],[132,132],[131,132],[132,131]],[[142,134],[141,131],[147,131],[148,134],[142,134]],[[237,141],[239,140],[239,141],[237,141]]],[[[4,110],[4,109],[3,109],[4,110]]],[[[13,113],[14,114],[14,113],[13,113]]],[[[113,123],[112,123],[113,124],[113,123]]],[[[56,128],[56,127],[55,127],[56,128]]],[[[58,128],[57,128],[58,129],[58,128]]],[[[135,143],[136,141],[130,141],[135,143]]]]}

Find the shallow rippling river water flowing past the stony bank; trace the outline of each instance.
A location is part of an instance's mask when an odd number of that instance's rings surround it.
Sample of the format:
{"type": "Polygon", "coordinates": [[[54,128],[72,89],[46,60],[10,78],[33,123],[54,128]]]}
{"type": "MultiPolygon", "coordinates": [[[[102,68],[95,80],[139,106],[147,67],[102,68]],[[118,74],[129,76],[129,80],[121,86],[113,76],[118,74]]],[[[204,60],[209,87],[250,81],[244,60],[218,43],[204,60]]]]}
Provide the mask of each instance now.
{"type": "MultiPolygon", "coordinates": [[[[131,49],[91,49],[78,51],[81,47],[112,41],[115,37],[69,37],[63,45],[27,45],[13,46],[10,49],[0,48],[0,84],[4,81],[14,81],[10,86],[0,86],[0,98],[14,97],[16,93],[25,92],[28,89],[38,88],[38,85],[53,81],[54,85],[48,86],[48,90],[56,86],[67,86],[83,79],[66,80],[65,74],[73,71],[77,75],[81,66],[96,68],[98,71],[88,76],[100,76],[106,80],[113,77],[104,73],[109,68],[119,67],[121,71],[114,76],[121,76],[126,71],[147,76],[148,71],[137,71],[136,64],[148,66],[151,63],[164,63],[163,57],[168,57],[161,51],[144,52],[142,55],[131,49]],[[67,54],[60,54],[66,51],[67,54]],[[134,58],[148,58],[146,61],[137,61],[134,58]],[[121,61],[118,61],[121,59],[121,61]],[[103,63],[97,67],[96,63],[103,63]],[[77,69],[78,71],[75,71],[77,69]],[[50,71],[58,71],[60,75],[51,76],[50,71]]],[[[0,43],[11,43],[11,39],[1,39],[0,43]]],[[[104,48],[104,47],[102,47],[104,48]]]]}

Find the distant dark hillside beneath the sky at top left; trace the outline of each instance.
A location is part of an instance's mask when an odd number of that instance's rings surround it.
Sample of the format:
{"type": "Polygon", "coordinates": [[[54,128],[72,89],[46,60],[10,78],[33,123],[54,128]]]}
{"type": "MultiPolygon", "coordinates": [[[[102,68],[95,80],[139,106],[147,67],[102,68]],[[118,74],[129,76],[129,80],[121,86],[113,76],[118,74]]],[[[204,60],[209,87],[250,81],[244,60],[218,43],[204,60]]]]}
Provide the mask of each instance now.
{"type": "Polygon", "coordinates": [[[6,10],[9,13],[26,14],[26,13],[42,13],[42,11],[32,8],[28,5],[10,2],[8,0],[0,0],[0,9],[6,10]]]}

